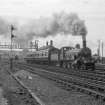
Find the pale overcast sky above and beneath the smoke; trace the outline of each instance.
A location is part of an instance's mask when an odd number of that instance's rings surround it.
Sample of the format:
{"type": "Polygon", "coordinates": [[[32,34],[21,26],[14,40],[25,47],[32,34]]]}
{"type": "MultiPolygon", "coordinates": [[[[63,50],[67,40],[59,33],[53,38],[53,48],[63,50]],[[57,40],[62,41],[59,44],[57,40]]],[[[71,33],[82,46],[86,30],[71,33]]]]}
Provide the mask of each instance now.
{"type": "MultiPolygon", "coordinates": [[[[88,30],[87,46],[95,53],[98,40],[105,42],[105,0],[0,0],[0,16],[10,22],[18,21],[19,24],[41,16],[49,17],[61,11],[77,13],[85,21],[88,30]]],[[[39,44],[43,45],[50,39],[54,41],[56,47],[82,43],[80,36],[59,34],[55,37],[39,38],[39,44]]],[[[8,38],[1,37],[1,40],[8,38]]]]}

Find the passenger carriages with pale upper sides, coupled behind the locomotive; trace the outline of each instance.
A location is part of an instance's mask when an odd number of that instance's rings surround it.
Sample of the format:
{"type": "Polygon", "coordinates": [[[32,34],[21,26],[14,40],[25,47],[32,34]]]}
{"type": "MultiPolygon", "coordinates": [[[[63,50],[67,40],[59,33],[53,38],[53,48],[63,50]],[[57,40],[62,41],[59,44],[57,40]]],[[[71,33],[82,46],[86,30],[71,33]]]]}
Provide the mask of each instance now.
{"type": "Polygon", "coordinates": [[[24,58],[28,63],[57,64],[59,60],[59,49],[53,46],[44,46],[38,51],[27,54],[24,58]]]}

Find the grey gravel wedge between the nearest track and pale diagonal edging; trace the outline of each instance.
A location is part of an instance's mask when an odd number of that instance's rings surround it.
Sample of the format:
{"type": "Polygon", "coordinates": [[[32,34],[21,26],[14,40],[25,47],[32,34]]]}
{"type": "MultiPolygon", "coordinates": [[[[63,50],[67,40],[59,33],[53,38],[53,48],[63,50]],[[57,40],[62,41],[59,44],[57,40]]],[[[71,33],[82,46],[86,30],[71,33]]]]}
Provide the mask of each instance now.
{"type": "Polygon", "coordinates": [[[17,76],[29,89],[35,93],[45,105],[105,105],[101,100],[95,100],[86,94],[76,91],[65,91],[47,79],[24,70],[17,76]]]}

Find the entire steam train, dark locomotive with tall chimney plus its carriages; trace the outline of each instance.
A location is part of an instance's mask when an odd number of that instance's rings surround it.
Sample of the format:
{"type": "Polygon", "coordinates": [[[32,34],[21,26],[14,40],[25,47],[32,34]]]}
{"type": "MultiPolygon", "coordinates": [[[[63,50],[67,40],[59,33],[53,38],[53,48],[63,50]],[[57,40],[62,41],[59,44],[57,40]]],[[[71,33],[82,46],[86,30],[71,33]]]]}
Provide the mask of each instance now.
{"type": "Polygon", "coordinates": [[[24,59],[27,63],[59,65],[63,68],[78,70],[95,69],[91,49],[86,47],[86,40],[83,40],[83,48],[76,45],[76,47],[65,46],[61,49],[55,48],[51,40],[50,45],[47,42],[46,46],[27,54],[24,59]]]}

